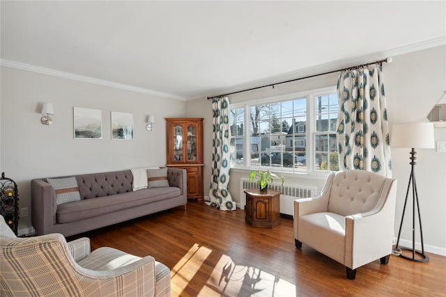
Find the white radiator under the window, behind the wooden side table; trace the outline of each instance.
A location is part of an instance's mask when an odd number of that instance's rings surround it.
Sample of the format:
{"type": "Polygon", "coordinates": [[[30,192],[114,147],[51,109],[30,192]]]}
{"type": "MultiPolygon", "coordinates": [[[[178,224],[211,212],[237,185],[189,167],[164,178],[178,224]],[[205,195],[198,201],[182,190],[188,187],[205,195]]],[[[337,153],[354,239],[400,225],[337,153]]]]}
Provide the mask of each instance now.
{"type": "MultiPolygon", "coordinates": [[[[256,182],[249,182],[248,179],[240,179],[240,209],[245,209],[246,194],[245,190],[249,188],[258,188],[256,182]]],[[[268,188],[281,191],[280,195],[280,213],[293,216],[293,201],[301,198],[314,197],[316,195],[315,186],[299,186],[295,184],[268,184],[268,188]]]]}

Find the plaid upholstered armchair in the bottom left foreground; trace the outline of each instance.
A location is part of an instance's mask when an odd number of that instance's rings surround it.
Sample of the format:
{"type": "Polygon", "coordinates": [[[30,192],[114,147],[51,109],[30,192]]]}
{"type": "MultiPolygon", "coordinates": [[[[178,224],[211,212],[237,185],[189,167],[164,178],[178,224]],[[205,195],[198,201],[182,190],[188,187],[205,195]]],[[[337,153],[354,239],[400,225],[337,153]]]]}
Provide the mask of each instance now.
{"type": "Polygon", "coordinates": [[[0,216],[0,296],[170,296],[170,271],[153,257],[114,248],[90,252],[88,238],[15,236],[0,216]]]}

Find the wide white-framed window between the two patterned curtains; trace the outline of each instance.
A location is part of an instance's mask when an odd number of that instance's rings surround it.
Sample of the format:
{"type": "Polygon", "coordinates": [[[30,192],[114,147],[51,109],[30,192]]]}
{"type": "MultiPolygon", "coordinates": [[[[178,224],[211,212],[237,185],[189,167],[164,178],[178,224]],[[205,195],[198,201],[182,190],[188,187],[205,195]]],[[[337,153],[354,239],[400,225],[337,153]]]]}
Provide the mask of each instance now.
{"type": "Polygon", "coordinates": [[[334,88],[231,104],[233,167],[337,170],[334,88]]]}

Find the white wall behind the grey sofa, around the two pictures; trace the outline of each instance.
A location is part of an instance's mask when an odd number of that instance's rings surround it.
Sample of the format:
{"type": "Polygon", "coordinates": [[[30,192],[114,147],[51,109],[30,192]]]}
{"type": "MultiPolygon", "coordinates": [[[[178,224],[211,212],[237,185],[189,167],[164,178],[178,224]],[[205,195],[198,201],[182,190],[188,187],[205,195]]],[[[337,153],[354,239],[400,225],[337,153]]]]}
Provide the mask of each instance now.
{"type": "MultiPolygon", "coordinates": [[[[1,172],[18,184],[31,214],[31,179],[124,170],[166,163],[164,118],[185,116],[185,102],[1,67],[1,172]],[[53,123],[40,123],[43,102],[53,123]],[[102,110],[102,139],[73,138],[73,107],[102,110]],[[111,140],[110,112],[132,113],[134,140],[111,140]],[[155,115],[153,131],[146,117],[155,115]]],[[[30,217],[20,218],[26,232],[30,217]]]]}

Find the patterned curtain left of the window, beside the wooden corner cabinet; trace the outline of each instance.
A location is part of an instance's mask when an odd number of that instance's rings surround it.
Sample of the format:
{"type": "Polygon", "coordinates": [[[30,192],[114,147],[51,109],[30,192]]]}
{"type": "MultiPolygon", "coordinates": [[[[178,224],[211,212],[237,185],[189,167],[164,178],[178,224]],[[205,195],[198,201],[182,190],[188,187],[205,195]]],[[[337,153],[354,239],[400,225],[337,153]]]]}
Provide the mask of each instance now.
{"type": "Polygon", "coordinates": [[[213,154],[212,178],[210,181],[208,205],[213,205],[221,211],[236,210],[228,191],[229,170],[231,169],[229,98],[214,98],[213,106],[213,154]]]}

